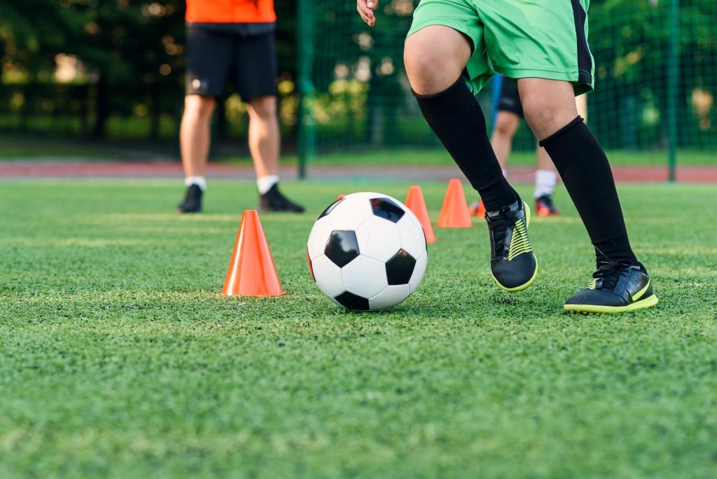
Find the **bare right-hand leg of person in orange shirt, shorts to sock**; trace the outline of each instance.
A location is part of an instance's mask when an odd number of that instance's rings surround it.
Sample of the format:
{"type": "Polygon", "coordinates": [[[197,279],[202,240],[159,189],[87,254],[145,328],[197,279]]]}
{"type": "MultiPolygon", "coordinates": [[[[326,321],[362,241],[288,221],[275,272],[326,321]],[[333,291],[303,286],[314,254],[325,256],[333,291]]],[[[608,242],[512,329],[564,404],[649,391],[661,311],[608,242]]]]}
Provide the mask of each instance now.
{"type": "Polygon", "coordinates": [[[257,178],[279,173],[279,145],[276,97],[252,98],[249,100],[249,150],[257,178]]]}

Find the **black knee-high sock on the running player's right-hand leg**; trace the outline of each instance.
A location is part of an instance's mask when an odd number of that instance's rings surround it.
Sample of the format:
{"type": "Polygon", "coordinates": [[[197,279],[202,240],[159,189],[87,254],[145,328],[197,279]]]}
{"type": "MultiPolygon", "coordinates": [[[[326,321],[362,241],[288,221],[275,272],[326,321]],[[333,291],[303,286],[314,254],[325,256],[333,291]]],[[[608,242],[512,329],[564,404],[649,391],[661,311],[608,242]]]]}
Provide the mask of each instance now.
{"type": "Polygon", "coordinates": [[[607,156],[583,119],[578,116],[540,141],[540,146],[555,163],[595,247],[598,262],[604,255],[613,261],[637,264],[607,156]]]}

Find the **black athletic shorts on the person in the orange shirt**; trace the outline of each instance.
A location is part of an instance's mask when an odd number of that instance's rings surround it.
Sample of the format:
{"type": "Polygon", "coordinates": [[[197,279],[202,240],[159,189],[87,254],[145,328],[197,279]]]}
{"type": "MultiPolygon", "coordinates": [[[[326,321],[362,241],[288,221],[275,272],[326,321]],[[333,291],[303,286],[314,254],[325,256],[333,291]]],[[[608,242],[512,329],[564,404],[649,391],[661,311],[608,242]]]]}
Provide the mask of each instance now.
{"type": "Polygon", "coordinates": [[[227,81],[242,100],[277,94],[274,32],[245,34],[187,24],[186,48],[187,95],[222,98],[227,81]]]}

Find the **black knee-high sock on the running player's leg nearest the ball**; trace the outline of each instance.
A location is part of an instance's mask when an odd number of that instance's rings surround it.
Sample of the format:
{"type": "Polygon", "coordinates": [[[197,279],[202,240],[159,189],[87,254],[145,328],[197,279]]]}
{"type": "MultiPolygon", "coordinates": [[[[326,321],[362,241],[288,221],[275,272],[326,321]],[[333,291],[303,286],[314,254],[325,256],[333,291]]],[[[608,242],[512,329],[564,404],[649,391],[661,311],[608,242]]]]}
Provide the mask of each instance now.
{"type": "Polygon", "coordinates": [[[518,194],[508,184],[490,146],[478,101],[459,78],[435,95],[418,95],[424,118],[483,199],[489,212],[513,204],[518,194]]]}

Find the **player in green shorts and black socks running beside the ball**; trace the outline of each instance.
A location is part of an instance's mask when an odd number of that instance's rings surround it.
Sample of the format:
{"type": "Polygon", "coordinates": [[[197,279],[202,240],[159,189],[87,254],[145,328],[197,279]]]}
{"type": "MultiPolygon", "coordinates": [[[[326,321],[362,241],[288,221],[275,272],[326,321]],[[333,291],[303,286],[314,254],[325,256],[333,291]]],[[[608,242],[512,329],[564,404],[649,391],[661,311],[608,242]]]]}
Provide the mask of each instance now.
{"type": "MultiPolygon", "coordinates": [[[[379,0],[357,0],[373,27],[379,0]]],[[[538,264],[528,240],[530,210],[505,181],[474,94],[500,72],[518,82],[528,125],[546,148],[585,224],[597,256],[587,288],[569,311],[617,313],[657,304],[635,257],[612,171],[578,115],[575,95],[592,90],[589,0],[422,0],[404,48],[419,107],[478,191],[490,235],[490,269],[508,291],[528,288],[538,264]]]]}

